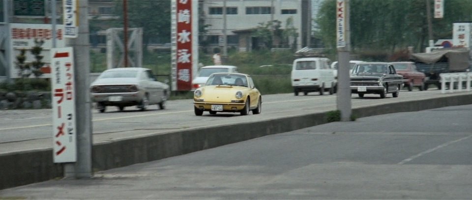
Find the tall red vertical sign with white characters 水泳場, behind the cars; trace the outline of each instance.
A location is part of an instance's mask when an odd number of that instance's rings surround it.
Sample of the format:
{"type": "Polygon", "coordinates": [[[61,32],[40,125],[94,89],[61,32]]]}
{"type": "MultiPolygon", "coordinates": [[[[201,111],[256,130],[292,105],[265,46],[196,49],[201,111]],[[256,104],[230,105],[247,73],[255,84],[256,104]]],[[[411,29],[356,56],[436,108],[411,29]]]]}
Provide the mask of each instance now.
{"type": "Polygon", "coordinates": [[[198,67],[198,1],[172,0],[172,90],[190,90],[198,67]]]}

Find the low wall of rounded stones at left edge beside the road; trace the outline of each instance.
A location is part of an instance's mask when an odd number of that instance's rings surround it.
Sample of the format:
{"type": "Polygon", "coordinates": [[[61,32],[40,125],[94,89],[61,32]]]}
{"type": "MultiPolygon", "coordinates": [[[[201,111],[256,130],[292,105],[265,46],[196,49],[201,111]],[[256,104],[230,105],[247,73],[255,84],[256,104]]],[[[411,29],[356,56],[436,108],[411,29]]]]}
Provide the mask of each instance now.
{"type": "Polygon", "coordinates": [[[46,91],[0,91],[0,109],[48,109],[51,107],[51,92],[46,91]]]}

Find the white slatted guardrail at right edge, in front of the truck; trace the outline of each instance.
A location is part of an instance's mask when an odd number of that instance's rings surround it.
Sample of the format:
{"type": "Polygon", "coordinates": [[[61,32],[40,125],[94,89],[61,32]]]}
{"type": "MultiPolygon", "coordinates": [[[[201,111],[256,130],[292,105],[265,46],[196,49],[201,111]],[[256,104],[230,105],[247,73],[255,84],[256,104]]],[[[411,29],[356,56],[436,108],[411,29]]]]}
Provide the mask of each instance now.
{"type": "Polygon", "coordinates": [[[439,75],[441,77],[441,93],[446,93],[446,83],[449,83],[448,92],[462,92],[462,84],[465,82],[466,91],[471,91],[471,72],[459,72],[459,73],[442,73],[439,75]],[[457,83],[457,85],[455,85],[457,83]],[[457,89],[454,89],[457,88],[457,89]]]}

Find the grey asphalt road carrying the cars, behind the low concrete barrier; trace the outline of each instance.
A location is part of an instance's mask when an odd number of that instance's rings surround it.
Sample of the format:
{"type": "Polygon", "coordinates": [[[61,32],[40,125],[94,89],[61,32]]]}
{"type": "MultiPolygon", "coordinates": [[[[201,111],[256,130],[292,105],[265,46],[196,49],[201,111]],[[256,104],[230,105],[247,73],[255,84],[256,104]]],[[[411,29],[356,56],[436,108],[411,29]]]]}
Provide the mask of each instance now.
{"type": "MultiPolygon", "coordinates": [[[[402,91],[398,98],[380,99],[379,95],[366,95],[358,98],[353,95],[353,108],[458,95],[461,93],[441,94],[440,90],[402,91]]],[[[167,109],[159,110],[150,106],[146,112],[135,107],[127,107],[118,112],[110,107],[107,113],[92,111],[94,143],[135,137],[138,135],[166,133],[188,128],[243,123],[267,120],[285,116],[310,114],[336,110],[336,95],[310,93],[307,96],[294,96],[293,93],[263,95],[262,114],[239,116],[238,113],[223,113],[195,116],[191,99],[168,101],[167,109]]],[[[52,110],[3,110],[0,111],[0,153],[50,148],[52,146],[52,110]]]]}

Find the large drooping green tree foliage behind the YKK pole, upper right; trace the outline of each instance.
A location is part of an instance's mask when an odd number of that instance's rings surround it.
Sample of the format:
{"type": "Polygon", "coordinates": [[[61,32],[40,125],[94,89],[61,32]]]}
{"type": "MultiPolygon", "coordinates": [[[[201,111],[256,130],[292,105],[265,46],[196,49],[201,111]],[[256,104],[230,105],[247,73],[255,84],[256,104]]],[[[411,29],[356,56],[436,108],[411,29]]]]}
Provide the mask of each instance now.
{"type": "MultiPolygon", "coordinates": [[[[433,0],[351,0],[350,28],[353,51],[393,53],[413,46],[422,51],[428,46],[426,3],[433,0]]],[[[445,0],[444,18],[432,19],[433,37],[452,38],[452,24],[472,21],[472,3],[445,0]]],[[[315,33],[326,48],[336,48],[336,0],[325,0],[315,19],[320,31],[315,33]]]]}

